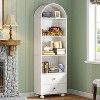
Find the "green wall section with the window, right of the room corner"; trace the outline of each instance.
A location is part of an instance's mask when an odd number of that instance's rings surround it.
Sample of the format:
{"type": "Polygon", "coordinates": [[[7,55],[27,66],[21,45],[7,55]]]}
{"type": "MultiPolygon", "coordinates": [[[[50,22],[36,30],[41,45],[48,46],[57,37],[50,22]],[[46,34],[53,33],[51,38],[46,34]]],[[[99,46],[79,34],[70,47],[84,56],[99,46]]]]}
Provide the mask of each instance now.
{"type": "Polygon", "coordinates": [[[92,92],[92,81],[100,79],[100,65],[85,64],[86,0],[72,0],[71,88],[92,92]]]}

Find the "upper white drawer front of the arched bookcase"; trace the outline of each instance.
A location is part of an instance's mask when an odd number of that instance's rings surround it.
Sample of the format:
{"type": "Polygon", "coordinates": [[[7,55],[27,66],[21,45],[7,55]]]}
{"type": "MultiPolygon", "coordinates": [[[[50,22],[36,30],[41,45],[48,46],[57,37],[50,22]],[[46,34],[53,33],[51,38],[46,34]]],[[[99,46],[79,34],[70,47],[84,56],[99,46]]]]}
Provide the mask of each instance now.
{"type": "Polygon", "coordinates": [[[42,84],[67,83],[67,75],[65,73],[44,74],[41,82],[42,84]]]}

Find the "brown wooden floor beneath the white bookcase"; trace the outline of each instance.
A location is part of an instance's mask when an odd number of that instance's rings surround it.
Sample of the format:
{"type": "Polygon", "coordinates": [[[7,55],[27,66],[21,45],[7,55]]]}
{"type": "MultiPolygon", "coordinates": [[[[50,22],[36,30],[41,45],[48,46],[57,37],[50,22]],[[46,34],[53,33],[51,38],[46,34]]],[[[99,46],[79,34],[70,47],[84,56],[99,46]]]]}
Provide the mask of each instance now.
{"type": "Polygon", "coordinates": [[[30,97],[28,100],[92,100],[89,98],[77,96],[77,95],[66,95],[64,97],[61,96],[45,96],[44,99],[39,99],[39,97],[30,97]]]}

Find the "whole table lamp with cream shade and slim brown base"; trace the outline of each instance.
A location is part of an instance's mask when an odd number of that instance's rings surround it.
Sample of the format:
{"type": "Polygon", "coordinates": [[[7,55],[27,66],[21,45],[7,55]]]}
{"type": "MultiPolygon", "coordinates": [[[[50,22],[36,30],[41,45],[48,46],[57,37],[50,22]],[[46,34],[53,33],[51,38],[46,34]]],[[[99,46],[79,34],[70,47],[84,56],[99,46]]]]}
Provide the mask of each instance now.
{"type": "Polygon", "coordinates": [[[7,17],[6,23],[4,25],[5,27],[9,27],[9,35],[10,38],[9,40],[12,40],[12,28],[18,26],[15,20],[15,16],[14,15],[9,15],[7,17]]]}

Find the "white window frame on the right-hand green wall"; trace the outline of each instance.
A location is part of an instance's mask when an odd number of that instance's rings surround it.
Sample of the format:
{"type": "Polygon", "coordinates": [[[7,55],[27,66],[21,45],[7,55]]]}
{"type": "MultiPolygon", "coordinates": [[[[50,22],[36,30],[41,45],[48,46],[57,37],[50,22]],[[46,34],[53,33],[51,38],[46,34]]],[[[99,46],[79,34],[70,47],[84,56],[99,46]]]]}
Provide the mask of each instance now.
{"type": "MultiPolygon", "coordinates": [[[[92,0],[92,1],[95,1],[95,0],[92,0]]],[[[86,59],[89,61],[88,63],[99,64],[98,60],[100,61],[100,52],[99,52],[99,40],[97,39],[97,36],[99,36],[99,34],[97,35],[98,29],[99,29],[97,25],[98,23],[97,13],[98,13],[99,8],[97,4],[92,4],[91,2],[90,0],[86,0],[86,5],[87,5],[86,6],[87,58],[86,59]]]]}

